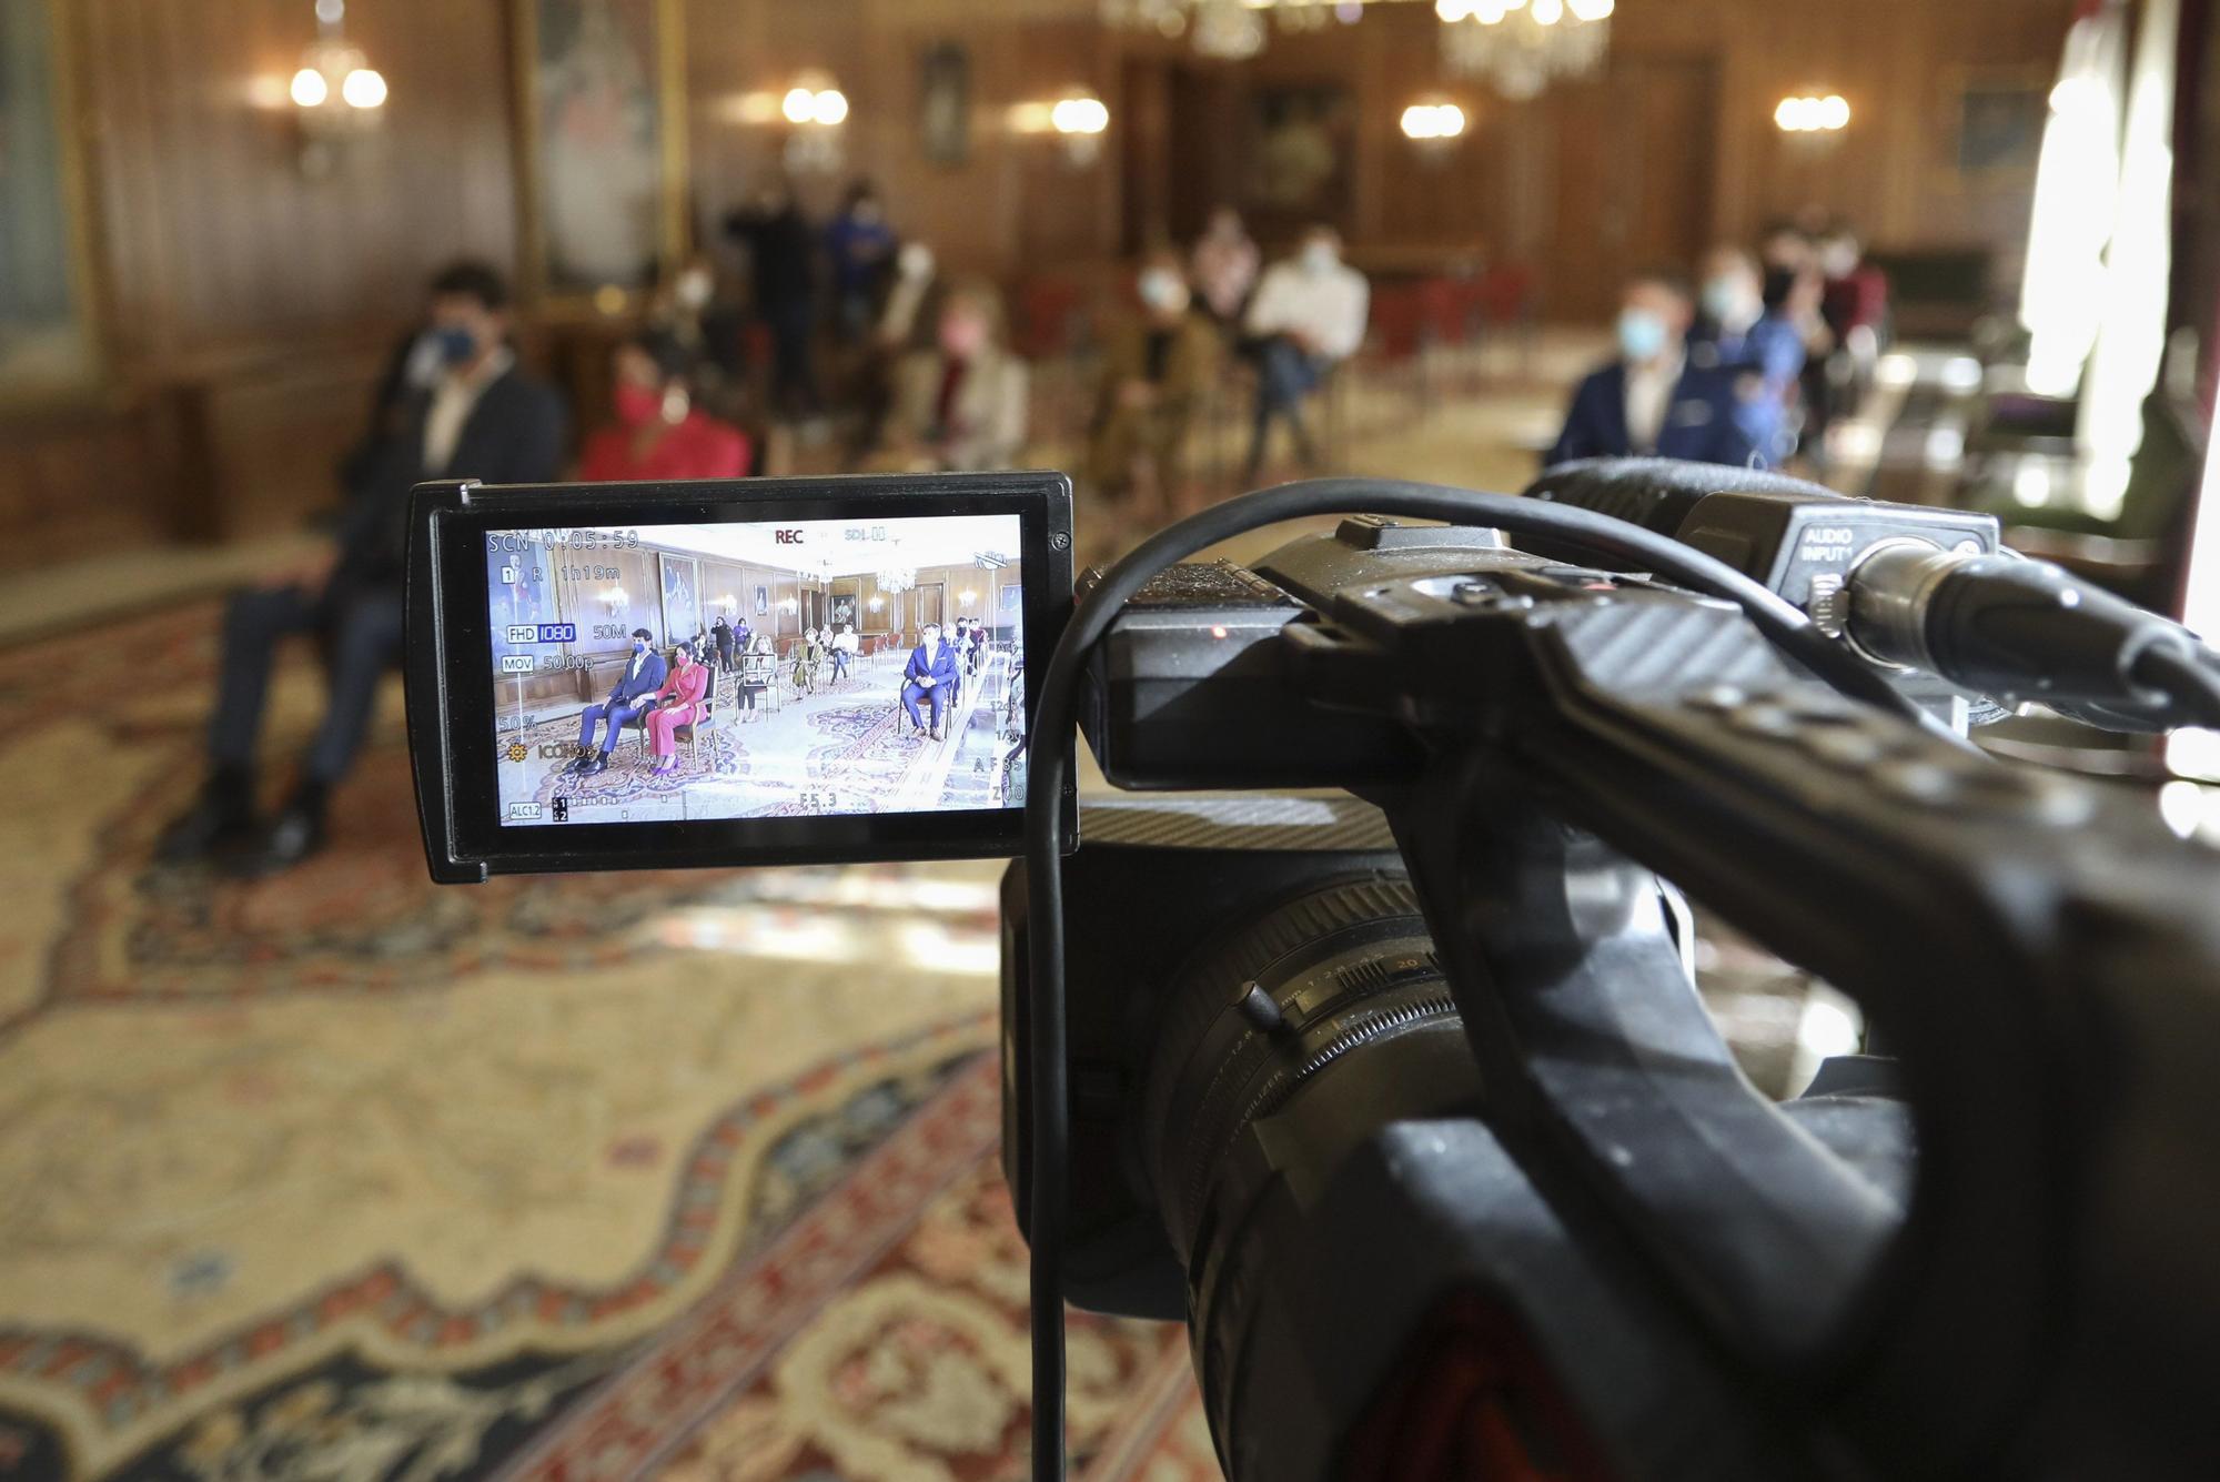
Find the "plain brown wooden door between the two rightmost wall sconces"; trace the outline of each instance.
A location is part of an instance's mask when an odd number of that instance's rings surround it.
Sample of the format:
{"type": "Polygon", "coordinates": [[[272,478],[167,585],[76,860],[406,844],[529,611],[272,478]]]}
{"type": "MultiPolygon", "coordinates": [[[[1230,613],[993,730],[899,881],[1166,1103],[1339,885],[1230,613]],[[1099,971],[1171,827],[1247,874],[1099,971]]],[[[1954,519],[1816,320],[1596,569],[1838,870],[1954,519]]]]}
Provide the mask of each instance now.
{"type": "Polygon", "coordinates": [[[1718,75],[1707,60],[1618,58],[1552,93],[1556,231],[1543,264],[1552,317],[1603,322],[1627,273],[1694,273],[1709,246],[1718,75]]]}

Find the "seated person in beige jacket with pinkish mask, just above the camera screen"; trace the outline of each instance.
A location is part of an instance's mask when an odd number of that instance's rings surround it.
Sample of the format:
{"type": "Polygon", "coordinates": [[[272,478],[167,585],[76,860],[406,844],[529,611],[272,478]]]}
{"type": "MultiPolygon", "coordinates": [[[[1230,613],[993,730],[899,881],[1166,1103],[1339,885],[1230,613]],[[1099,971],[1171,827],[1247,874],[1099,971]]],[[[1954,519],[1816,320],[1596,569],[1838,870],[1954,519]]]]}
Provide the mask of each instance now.
{"type": "Polygon", "coordinates": [[[959,284],[941,304],[935,348],[901,366],[884,461],[939,473],[1015,468],[1030,399],[1030,370],[1003,344],[1001,295],[992,284],[959,284]]]}

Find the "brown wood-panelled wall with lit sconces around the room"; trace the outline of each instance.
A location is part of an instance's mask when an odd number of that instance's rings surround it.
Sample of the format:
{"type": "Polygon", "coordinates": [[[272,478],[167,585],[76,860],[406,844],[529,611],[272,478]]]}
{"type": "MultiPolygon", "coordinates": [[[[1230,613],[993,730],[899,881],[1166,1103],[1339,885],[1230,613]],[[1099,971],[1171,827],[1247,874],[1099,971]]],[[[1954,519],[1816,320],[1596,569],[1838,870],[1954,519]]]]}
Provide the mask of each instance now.
{"type": "MultiPolygon", "coordinates": [[[[1969,69],[2045,75],[2071,9],[1623,0],[1607,80],[1512,106],[1441,75],[1425,4],[1276,33],[1259,60],[1228,69],[1183,42],[1106,31],[1094,0],[688,0],[693,217],[713,240],[779,162],[784,124],[739,122],[741,100],[824,69],[852,104],[848,173],[879,180],[897,226],[950,268],[1019,280],[1099,266],[1152,233],[1185,235],[1232,193],[1245,89],[1341,80],[1359,102],[1343,226],[1374,253],[1483,246],[1556,266],[1561,286],[1605,282],[1614,257],[1592,248],[1629,186],[1592,160],[1638,177],[1641,213],[1661,222],[1643,231],[1676,251],[1749,235],[1807,202],[1865,222],[1885,246],[2011,251],[2027,182],[1951,171],[1951,87],[1969,69]],[[919,58],[939,40],[961,40],[972,67],[972,153],[952,169],[924,158],[917,126],[919,58]],[[1066,87],[1112,109],[1092,169],[1008,126],[1012,104],[1066,87]],[[1783,93],[1814,87],[1856,109],[1825,155],[1772,126],[1783,93]],[[1474,129],[1425,158],[1396,115],[1436,89],[1467,104],[1474,129]],[[1701,115],[1689,98],[1705,100],[1701,115]],[[1652,155],[1656,169],[1627,164],[1652,155]]],[[[75,126],[113,384],[67,415],[0,413],[0,532],[47,532],[38,546],[0,541],[0,564],[133,532],[300,521],[329,506],[326,470],[424,275],[460,253],[515,262],[508,4],[353,7],[349,29],[391,84],[386,126],[320,180],[300,169],[284,104],[313,29],[306,0],[56,0],[56,13],[82,71],[75,126]],[[184,466],[180,408],[204,413],[184,466]],[[195,526],[204,488],[222,490],[226,515],[195,526]]],[[[810,182],[810,204],[830,206],[844,177],[810,182]]],[[[1561,291],[1552,308],[1596,306],[1561,291]]]]}

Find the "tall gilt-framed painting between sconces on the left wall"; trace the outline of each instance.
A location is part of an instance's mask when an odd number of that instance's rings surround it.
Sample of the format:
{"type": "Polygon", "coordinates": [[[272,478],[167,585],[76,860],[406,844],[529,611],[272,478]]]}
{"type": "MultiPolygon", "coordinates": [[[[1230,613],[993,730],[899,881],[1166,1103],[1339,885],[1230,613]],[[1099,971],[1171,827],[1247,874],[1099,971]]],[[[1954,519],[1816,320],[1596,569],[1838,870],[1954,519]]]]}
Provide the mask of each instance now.
{"type": "Polygon", "coordinates": [[[684,0],[511,0],[524,291],[622,311],[686,255],[684,0]]]}

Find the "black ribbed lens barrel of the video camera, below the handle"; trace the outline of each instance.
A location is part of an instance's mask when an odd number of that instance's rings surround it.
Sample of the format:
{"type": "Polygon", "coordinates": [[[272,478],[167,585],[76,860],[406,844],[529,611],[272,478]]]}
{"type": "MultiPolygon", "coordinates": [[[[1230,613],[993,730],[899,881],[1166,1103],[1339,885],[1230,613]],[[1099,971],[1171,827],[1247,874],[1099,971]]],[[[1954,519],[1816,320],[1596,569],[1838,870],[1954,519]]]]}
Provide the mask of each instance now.
{"type": "Polygon", "coordinates": [[[1245,1451],[1234,1360],[1279,1300],[1261,1267],[1281,1238],[1301,1238],[1301,1198],[1285,1194],[1321,1185],[1388,1120],[1476,1094],[1403,879],[1368,874],[1288,899],[1177,974],[1143,1087],[1143,1163],[1188,1271],[1197,1378],[1228,1458],[1245,1451]]]}

